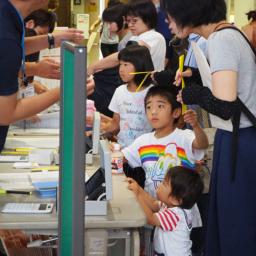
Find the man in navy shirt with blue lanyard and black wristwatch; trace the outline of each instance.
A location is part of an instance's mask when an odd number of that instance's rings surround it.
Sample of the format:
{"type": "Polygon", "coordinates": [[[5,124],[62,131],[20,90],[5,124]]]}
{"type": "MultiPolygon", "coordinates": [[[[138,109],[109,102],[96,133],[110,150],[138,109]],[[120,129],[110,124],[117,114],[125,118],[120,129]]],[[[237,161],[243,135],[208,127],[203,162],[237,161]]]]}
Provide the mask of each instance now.
{"type": "MultiPolygon", "coordinates": [[[[21,47],[23,19],[31,12],[44,7],[48,1],[0,1],[0,125],[3,125],[0,126],[0,152],[4,146],[9,124],[36,115],[60,100],[60,87],[40,95],[17,100],[18,77],[22,76],[20,67],[23,59],[21,47]]],[[[48,40],[50,37],[48,35],[28,37],[25,39],[25,53],[28,55],[38,52],[49,48],[50,44],[59,47],[61,38],[70,38],[74,43],[81,43],[81,40],[76,39],[84,38],[80,35],[81,33],[83,31],[72,28],[62,30],[54,34],[54,42],[48,40]]],[[[41,68],[47,64],[45,61],[42,63],[41,68]]],[[[60,66],[55,63],[50,64],[55,65],[55,73],[59,74],[60,66]]],[[[33,68],[26,65],[27,76],[33,76],[35,72],[35,65],[33,68]]],[[[90,85],[93,86],[93,80],[90,85]]]]}

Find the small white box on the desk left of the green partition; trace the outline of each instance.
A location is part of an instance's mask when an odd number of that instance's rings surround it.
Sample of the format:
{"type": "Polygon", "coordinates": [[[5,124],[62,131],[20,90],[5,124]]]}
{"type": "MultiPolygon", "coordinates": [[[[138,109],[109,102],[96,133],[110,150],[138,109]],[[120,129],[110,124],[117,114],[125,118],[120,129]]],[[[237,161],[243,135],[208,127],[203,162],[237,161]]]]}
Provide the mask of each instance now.
{"type": "Polygon", "coordinates": [[[53,159],[53,149],[31,149],[28,153],[28,162],[34,162],[37,164],[52,164],[53,159]]]}

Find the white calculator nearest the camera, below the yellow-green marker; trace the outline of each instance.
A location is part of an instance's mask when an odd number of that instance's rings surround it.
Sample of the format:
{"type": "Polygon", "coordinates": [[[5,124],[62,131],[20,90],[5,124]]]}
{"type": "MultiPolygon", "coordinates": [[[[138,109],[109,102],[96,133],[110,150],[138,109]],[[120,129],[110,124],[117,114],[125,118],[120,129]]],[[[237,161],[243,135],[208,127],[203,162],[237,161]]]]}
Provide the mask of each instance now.
{"type": "Polygon", "coordinates": [[[33,204],[33,203],[7,203],[2,212],[9,213],[49,213],[52,212],[53,204],[33,204]]]}

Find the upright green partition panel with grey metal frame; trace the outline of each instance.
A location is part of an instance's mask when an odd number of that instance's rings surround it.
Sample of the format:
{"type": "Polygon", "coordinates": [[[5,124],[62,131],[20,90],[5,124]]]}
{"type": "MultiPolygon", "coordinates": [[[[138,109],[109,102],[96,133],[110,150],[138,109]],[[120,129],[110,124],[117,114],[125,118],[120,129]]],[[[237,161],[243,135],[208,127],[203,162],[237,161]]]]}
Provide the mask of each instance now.
{"type": "Polygon", "coordinates": [[[84,255],[86,46],[61,42],[59,256],[84,255]]]}

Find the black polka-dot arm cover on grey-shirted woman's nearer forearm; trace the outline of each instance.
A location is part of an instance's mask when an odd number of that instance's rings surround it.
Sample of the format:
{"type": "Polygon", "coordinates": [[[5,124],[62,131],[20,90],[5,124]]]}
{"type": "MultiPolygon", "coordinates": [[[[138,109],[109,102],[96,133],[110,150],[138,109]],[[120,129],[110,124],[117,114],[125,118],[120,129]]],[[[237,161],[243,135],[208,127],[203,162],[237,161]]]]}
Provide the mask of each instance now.
{"type": "Polygon", "coordinates": [[[191,85],[182,90],[184,104],[198,104],[201,108],[223,120],[233,116],[236,101],[220,100],[213,96],[211,90],[206,86],[191,85]]]}

